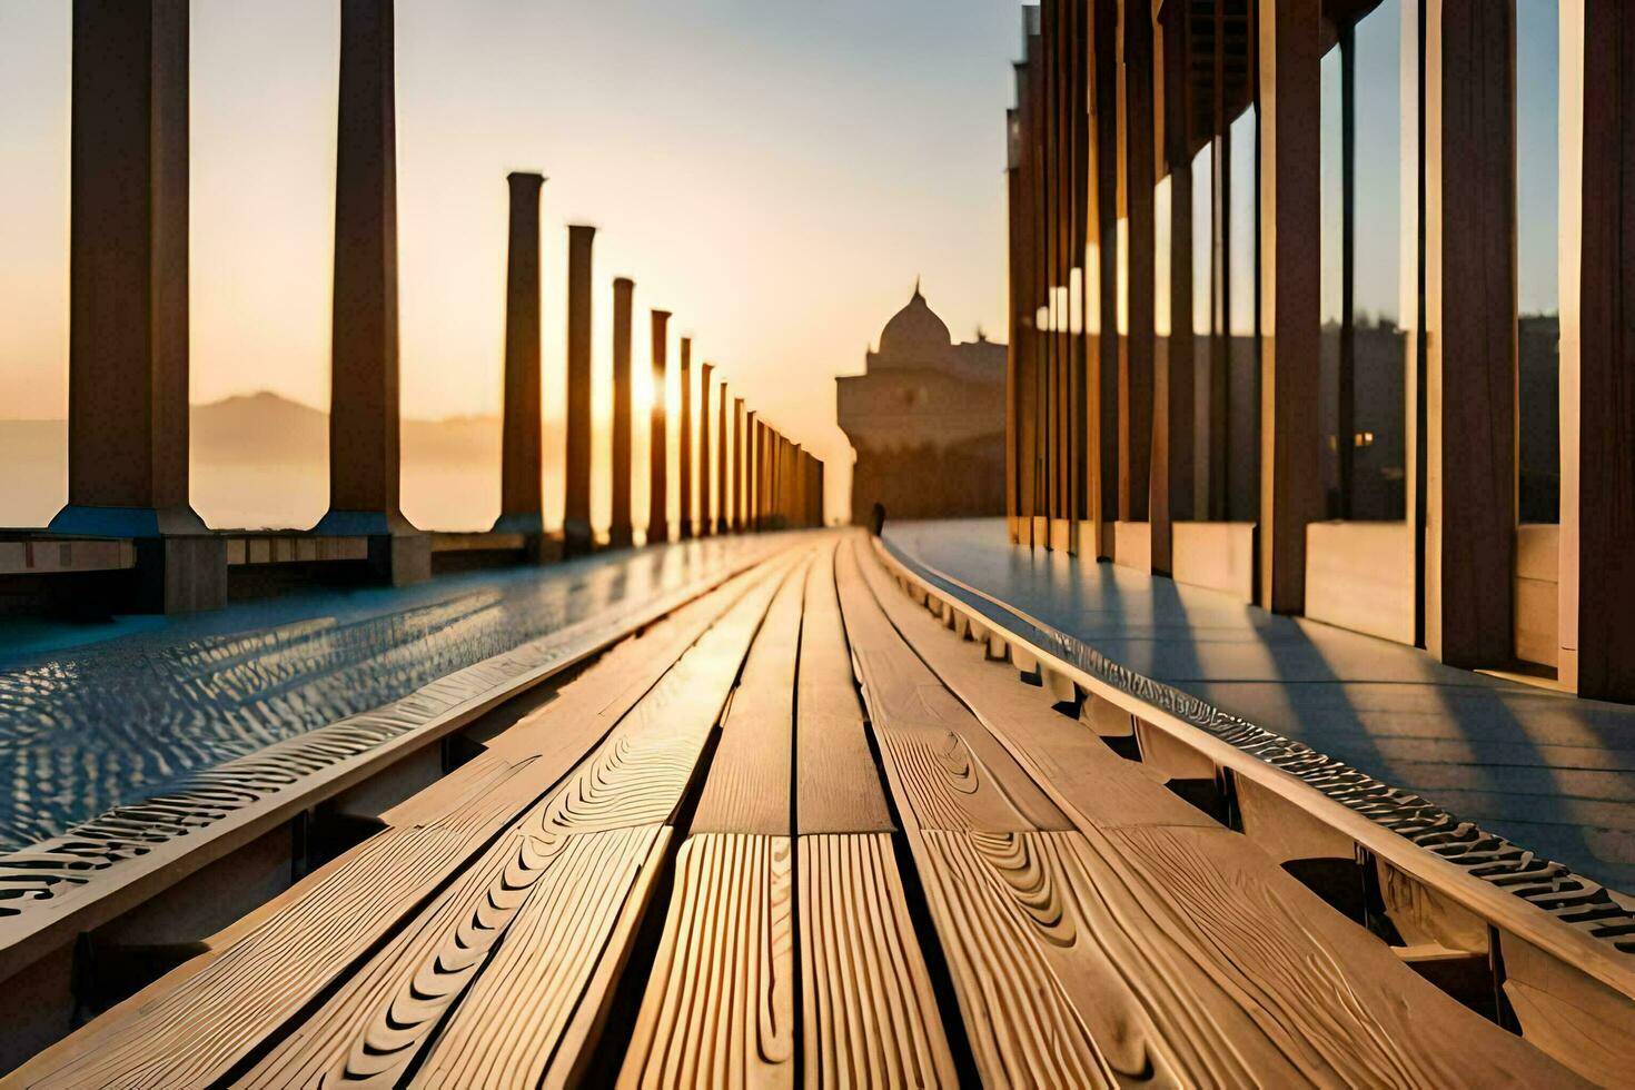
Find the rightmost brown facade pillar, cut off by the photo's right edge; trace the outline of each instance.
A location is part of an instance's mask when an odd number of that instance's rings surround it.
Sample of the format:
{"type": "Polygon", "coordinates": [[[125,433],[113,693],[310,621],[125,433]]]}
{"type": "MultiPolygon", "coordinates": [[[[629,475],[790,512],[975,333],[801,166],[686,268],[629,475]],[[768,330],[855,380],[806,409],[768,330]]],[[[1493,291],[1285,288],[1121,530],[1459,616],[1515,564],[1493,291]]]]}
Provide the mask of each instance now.
{"type": "Polygon", "coordinates": [[[1579,696],[1635,701],[1635,8],[1561,15],[1561,105],[1583,101],[1561,126],[1561,665],[1579,696]]]}

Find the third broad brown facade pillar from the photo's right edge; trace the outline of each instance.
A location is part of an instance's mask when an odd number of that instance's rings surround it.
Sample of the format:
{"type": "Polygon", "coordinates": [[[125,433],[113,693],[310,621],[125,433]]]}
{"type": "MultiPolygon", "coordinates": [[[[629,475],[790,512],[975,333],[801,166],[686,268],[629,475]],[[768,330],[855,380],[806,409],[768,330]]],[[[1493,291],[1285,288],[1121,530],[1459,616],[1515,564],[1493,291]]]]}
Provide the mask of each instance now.
{"type": "Polygon", "coordinates": [[[1300,613],[1318,480],[1321,0],[1261,0],[1261,587],[1300,613]]]}

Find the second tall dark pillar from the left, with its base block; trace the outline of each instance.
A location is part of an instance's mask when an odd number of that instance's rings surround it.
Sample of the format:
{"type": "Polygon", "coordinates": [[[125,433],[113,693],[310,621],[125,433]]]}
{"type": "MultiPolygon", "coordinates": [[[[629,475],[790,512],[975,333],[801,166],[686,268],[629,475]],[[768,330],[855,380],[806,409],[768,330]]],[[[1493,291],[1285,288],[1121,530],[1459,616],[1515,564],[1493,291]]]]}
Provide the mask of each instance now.
{"type": "Polygon", "coordinates": [[[432,572],[430,539],[399,508],[397,109],[392,0],[340,8],[329,513],[319,534],[365,534],[392,583],[432,572]]]}

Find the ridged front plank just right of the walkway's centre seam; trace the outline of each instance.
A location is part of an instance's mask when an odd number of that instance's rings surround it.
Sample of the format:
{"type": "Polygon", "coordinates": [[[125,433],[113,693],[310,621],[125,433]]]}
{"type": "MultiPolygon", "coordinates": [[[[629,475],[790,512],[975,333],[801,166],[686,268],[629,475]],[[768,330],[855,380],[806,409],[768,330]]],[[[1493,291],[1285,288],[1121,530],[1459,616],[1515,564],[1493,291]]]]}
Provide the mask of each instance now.
{"type": "Polygon", "coordinates": [[[798,853],[804,1085],[958,1085],[891,837],[798,853]]]}

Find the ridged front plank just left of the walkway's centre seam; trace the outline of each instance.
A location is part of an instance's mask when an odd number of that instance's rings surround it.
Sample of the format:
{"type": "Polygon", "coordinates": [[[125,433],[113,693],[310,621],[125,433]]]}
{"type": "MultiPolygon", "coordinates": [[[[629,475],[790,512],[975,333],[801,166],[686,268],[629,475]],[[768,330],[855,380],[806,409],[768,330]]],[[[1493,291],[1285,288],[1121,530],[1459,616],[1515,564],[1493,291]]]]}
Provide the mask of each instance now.
{"type": "Polygon", "coordinates": [[[621,1087],[793,1087],[793,842],[690,837],[621,1087]]]}

